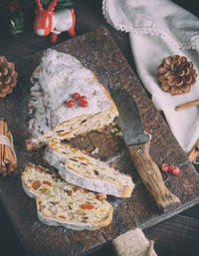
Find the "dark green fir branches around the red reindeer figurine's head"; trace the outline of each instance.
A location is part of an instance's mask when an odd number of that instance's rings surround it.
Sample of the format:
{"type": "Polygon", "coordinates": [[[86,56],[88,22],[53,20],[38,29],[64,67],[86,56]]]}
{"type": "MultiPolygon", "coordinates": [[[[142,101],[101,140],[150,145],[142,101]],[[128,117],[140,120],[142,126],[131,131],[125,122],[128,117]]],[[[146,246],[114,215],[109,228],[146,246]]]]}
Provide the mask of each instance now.
{"type": "MultiPolygon", "coordinates": [[[[52,0],[41,0],[43,8],[47,8],[52,0]]],[[[74,6],[73,0],[58,0],[55,10],[63,8],[71,8],[74,6]]],[[[1,0],[0,12],[7,18],[9,31],[13,35],[19,35],[25,28],[26,13],[28,11],[35,12],[37,9],[35,0],[1,0]]]]}

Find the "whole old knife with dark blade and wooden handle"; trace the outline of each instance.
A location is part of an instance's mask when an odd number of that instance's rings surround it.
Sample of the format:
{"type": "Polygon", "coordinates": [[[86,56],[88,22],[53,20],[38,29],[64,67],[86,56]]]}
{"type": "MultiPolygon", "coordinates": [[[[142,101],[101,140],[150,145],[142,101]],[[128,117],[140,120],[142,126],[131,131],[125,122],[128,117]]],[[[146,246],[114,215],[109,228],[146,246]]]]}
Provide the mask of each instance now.
{"type": "Polygon", "coordinates": [[[176,208],[181,203],[180,199],[167,189],[157,164],[150,157],[151,135],[144,132],[136,102],[126,91],[120,89],[112,89],[111,97],[118,110],[124,141],[146,189],[163,212],[176,208]]]}

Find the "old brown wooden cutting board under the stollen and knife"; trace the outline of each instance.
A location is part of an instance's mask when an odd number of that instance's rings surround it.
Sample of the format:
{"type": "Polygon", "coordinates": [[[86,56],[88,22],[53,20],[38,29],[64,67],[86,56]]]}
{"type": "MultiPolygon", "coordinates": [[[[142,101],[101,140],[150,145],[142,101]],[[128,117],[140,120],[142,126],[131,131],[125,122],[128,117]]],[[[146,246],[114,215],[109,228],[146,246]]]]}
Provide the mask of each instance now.
{"type": "Polygon", "coordinates": [[[107,90],[110,87],[125,89],[137,102],[143,126],[152,134],[150,154],[160,166],[167,162],[181,169],[180,175],[162,173],[166,186],[177,195],[182,204],[170,212],[158,210],[152,196],[143,186],[122,137],[105,128],[93,131],[85,137],[77,137],[73,146],[94,152],[96,157],[112,162],[114,167],[130,173],[135,182],[131,198],[108,196],[114,212],[108,227],[97,231],[73,231],[63,227],[51,227],[37,218],[36,203],[29,198],[21,185],[21,173],[28,160],[44,165],[43,152],[28,152],[25,140],[28,137],[28,103],[31,87],[30,77],[39,65],[42,52],[16,64],[19,83],[11,96],[1,99],[0,117],[5,117],[14,136],[19,168],[14,176],[0,177],[0,198],[7,210],[17,234],[29,255],[65,256],[79,255],[112,240],[122,233],[141,227],[150,227],[199,202],[199,177],[187,155],[174,138],[171,130],[148,98],[142,85],[115,46],[104,28],[57,45],[56,50],[75,56],[82,64],[93,70],[107,90]]]}

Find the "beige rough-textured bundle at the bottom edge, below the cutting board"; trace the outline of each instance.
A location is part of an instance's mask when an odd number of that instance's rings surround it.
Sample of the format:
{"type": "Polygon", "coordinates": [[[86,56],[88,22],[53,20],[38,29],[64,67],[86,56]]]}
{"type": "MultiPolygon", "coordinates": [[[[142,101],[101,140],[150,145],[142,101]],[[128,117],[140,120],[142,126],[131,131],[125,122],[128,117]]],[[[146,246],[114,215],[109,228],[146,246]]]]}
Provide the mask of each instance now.
{"type": "Polygon", "coordinates": [[[157,256],[154,242],[148,240],[140,228],[130,230],[112,241],[118,256],[157,256]]]}

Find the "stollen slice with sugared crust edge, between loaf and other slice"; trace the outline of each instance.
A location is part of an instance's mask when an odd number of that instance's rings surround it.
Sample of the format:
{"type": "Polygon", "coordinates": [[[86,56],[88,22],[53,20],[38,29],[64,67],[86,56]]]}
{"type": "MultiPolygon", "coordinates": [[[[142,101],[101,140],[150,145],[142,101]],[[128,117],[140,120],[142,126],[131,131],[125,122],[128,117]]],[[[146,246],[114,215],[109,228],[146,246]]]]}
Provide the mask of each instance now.
{"type": "Polygon", "coordinates": [[[69,144],[49,143],[45,159],[59,170],[63,179],[75,185],[117,197],[130,197],[133,190],[134,183],[129,175],[110,168],[69,144]]]}

